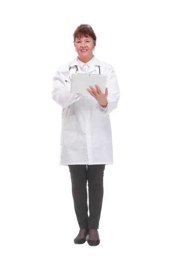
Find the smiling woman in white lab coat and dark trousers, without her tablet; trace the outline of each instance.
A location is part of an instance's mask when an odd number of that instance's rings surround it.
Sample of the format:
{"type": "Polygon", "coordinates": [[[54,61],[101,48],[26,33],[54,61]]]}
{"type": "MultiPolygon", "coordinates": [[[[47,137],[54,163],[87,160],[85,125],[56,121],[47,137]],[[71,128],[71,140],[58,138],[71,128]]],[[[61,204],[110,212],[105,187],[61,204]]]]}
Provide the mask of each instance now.
{"type": "Polygon", "coordinates": [[[80,228],[74,243],[83,244],[88,239],[88,244],[95,246],[100,243],[98,229],[104,169],[105,165],[113,164],[109,113],[117,108],[119,86],[113,67],[93,55],[96,35],[92,27],[81,24],[73,37],[78,56],[59,67],[53,79],[52,98],[62,106],[59,164],[68,166],[71,174],[74,209],[80,228]],[[97,85],[87,89],[88,95],[71,93],[71,75],[75,72],[107,75],[105,93],[97,85]]]}

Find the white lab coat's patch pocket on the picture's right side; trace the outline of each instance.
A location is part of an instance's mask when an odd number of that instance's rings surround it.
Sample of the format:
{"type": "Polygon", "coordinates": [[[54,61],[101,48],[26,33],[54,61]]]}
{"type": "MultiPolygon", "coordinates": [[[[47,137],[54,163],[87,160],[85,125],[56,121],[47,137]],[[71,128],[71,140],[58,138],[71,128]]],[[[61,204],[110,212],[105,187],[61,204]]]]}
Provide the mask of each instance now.
{"type": "Polygon", "coordinates": [[[100,115],[100,136],[105,143],[112,143],[111,121],[109,116],[100,115]]]}

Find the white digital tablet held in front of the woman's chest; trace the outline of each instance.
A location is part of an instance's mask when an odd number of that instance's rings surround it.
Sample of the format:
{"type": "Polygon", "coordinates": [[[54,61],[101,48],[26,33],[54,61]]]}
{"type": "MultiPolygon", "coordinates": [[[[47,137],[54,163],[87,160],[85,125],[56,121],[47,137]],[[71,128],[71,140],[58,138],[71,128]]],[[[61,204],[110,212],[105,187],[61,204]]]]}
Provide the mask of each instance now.
{"type": "Polygon", "coordinates": [[[102,93],[105,93],[106,81],[107,75],[73,73],[71,77],[71,93],[90,94],[86,89],[91,90],[90,86],[92,86],[96,90],[96,85],[99,86],[102,93]]]}

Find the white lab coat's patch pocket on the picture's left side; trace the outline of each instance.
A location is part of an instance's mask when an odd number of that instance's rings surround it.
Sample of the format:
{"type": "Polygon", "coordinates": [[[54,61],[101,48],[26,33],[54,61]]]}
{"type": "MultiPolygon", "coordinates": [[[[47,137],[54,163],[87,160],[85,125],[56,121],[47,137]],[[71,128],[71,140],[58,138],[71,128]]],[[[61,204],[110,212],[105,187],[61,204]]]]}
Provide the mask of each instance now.
{"type": "Polygon", "coordinates": [[[76,116],[66,116],[62,120],[61,145],[74,143],[76,137],[76,116]]]}

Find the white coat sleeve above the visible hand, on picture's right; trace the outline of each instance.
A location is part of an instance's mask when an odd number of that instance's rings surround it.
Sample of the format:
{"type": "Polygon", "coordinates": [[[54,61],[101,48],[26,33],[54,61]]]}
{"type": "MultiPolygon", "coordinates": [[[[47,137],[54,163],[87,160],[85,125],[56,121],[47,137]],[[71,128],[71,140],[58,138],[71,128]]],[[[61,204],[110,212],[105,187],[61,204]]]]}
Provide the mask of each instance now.
{"type": "Polygon", "coordinates": [[[102,116],[106,116],[110,114],[111,111],[117,108],[117,104],[120,96],[119,85],[117,82],[116,74],[111,65],[110,65],[110,68],[108,69],[107,76],[108,77],[107,77],[106,87],[108,87],[108,96],[107,96],[108,105],[106,108],[103,108],[98,103],[98,110],[102,116]]]}

